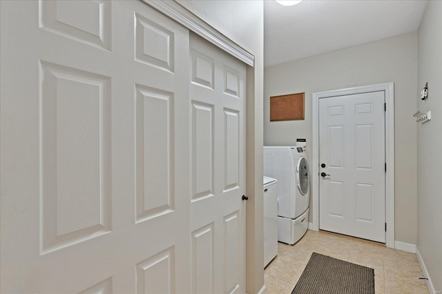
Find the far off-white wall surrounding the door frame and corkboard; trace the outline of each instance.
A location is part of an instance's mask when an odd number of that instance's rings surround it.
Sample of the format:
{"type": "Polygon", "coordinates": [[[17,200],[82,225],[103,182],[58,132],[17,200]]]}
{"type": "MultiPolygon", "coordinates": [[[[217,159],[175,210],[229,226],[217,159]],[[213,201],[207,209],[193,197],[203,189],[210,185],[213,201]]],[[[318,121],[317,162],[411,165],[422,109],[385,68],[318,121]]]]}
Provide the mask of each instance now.
{"type": "MultiPolygon", "coordinates": [[[[264,143],[307,138],[311,154],[311,93],[394,83],[395,240],[416,244],[416,33],[265,67],[264,143]],[[305,92],[305,120],[269,121],[269,97],[305,92]]],[[[311,214],[310,214],[311,222],[311,214]]]]}

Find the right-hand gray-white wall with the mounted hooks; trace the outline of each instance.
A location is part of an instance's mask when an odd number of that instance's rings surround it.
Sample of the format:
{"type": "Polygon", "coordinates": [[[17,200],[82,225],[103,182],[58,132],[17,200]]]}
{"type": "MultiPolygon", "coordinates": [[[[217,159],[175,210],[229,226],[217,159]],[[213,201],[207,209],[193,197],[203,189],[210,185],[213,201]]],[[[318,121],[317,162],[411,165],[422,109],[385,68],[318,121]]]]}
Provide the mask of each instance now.
{"type": "MultiPolygon", "coordinates": [[[[428,1],[418,31],[417,90],[428,82],[432,120],[417,126],[417,246],[436,291],[442,291],[442,1],[428,1]]],[[[416,96],[418,94],[416,92],[416,96]]]]}

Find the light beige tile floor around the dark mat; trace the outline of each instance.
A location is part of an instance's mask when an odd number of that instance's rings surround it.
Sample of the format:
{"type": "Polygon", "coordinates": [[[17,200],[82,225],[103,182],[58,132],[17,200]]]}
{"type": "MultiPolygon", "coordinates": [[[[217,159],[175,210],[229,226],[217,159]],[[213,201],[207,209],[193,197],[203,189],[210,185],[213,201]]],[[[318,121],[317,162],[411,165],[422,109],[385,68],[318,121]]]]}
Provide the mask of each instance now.
{"type": "Polygon", "coordinates": [[[423,273],[416,254],[310,230],[293,246],[278,242],[278,256],[264,271],[267,293],[290,294],[313,252],[374,269],[376,294],[429,294],[425,280],[417,280],[423,273]]]}

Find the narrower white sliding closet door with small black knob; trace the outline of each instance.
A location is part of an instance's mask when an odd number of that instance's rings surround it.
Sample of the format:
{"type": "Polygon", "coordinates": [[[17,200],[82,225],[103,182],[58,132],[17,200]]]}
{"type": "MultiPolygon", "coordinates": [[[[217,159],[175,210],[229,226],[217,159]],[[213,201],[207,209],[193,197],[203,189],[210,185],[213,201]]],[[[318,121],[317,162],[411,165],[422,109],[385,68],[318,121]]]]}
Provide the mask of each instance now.
{"type": "Polygon", "coordinates": [[[245,293],[246,65],[190,43],[191,293],[245,293]]]}

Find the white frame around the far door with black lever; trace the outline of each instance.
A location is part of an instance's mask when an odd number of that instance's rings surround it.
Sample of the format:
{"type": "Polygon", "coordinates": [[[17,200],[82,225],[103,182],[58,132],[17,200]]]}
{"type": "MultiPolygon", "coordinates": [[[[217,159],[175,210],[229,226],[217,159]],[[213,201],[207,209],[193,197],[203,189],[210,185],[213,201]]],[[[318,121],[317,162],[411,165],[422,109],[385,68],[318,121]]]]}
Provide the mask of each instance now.
{"type": "Polygon", "coordinates": [[[346,89],[314,92],[312,98],[312,135],[313,154],[311,175],[312,225],[311,229],[319,231],[319,99],[334,96],[385,92],[385,245],[394,249],[394,83],[383,83],[346,89]],[[317,176],[316,176],[317,175],[317,176]]]}

